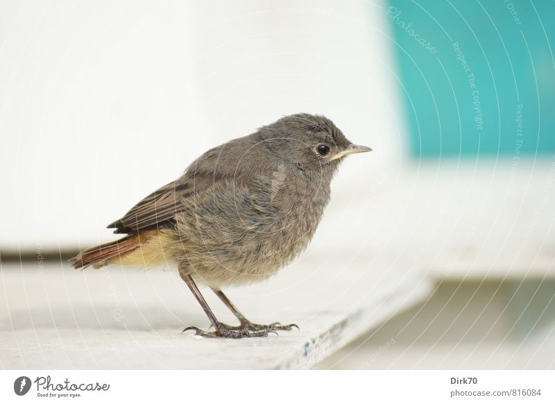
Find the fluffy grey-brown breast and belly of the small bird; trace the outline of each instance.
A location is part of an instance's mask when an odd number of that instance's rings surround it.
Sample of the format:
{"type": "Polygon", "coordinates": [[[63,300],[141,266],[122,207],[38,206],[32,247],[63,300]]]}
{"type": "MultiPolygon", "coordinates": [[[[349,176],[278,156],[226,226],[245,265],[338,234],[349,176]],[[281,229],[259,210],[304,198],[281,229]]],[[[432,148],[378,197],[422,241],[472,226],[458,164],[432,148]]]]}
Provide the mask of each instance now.
{"type": "Polygon", "coordinates": [[[266,184],[216,192],[178,217],[177,260],[198,280],[214,286],[263,280],[309,244],[329,187],[280,178],[266,184]]]}

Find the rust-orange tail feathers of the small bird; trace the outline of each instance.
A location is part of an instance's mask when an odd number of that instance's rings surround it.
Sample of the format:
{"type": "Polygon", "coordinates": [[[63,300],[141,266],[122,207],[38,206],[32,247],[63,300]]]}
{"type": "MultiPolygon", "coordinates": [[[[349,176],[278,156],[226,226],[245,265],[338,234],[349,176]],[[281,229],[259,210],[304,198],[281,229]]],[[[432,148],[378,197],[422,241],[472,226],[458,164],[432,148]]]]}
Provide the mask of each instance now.
{"type": "Polygon", "coordinates": [[[73,262],[71,266],[76,269],[86,268],[90,265],[94,268],[100,268],[109,264],[112,260],[119,260],[132,253],[139,248],[140,242],[141,237],[139,237],[139,233],[130,234],[114,242],[101,244],[100,246],[81,251],[69,261],[73,262]]]}

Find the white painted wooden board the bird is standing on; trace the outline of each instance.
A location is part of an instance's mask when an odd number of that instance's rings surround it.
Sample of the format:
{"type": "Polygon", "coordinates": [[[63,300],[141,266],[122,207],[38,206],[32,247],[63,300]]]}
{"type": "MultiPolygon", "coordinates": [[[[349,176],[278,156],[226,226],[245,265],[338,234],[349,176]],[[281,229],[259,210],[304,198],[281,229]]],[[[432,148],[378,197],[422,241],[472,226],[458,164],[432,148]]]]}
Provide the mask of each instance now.
{"type": "MultiPolygon", "coordinates": [[[[3,265],[1,369],[303,369],[431,291],[421,273],[364,256],[307,255],[228,296],[256,322],[296,322],[277,337],[203,339],[209,321],[176,273],[3,265]]],[[[236,323],[210,290],[221,321],[236,323]]]]}

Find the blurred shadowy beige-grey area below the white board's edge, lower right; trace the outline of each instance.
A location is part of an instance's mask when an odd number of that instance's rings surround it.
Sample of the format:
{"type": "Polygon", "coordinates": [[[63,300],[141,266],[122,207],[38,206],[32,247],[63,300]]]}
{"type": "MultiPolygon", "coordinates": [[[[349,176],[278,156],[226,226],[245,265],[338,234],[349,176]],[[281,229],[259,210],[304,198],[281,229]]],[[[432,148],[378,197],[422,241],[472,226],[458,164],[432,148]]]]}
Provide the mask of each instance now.
{"type": "Polygon", "coordinates": [[[443,279],[316,369],[555,369],[555,278],[443,279]]]}

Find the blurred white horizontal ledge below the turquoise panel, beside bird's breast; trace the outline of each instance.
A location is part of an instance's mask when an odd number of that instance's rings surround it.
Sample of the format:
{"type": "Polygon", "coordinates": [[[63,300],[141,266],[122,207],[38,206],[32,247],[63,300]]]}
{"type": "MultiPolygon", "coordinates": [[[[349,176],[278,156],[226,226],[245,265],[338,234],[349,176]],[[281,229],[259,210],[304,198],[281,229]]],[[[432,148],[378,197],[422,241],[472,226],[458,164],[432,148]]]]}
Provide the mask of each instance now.
{"type": "Polygon", "coordinates": [[[428,162],[357,180],[366,199],[334,192],[310,249],[402,259],[436,278],[555,271],[555,159],[428,162]]]}

